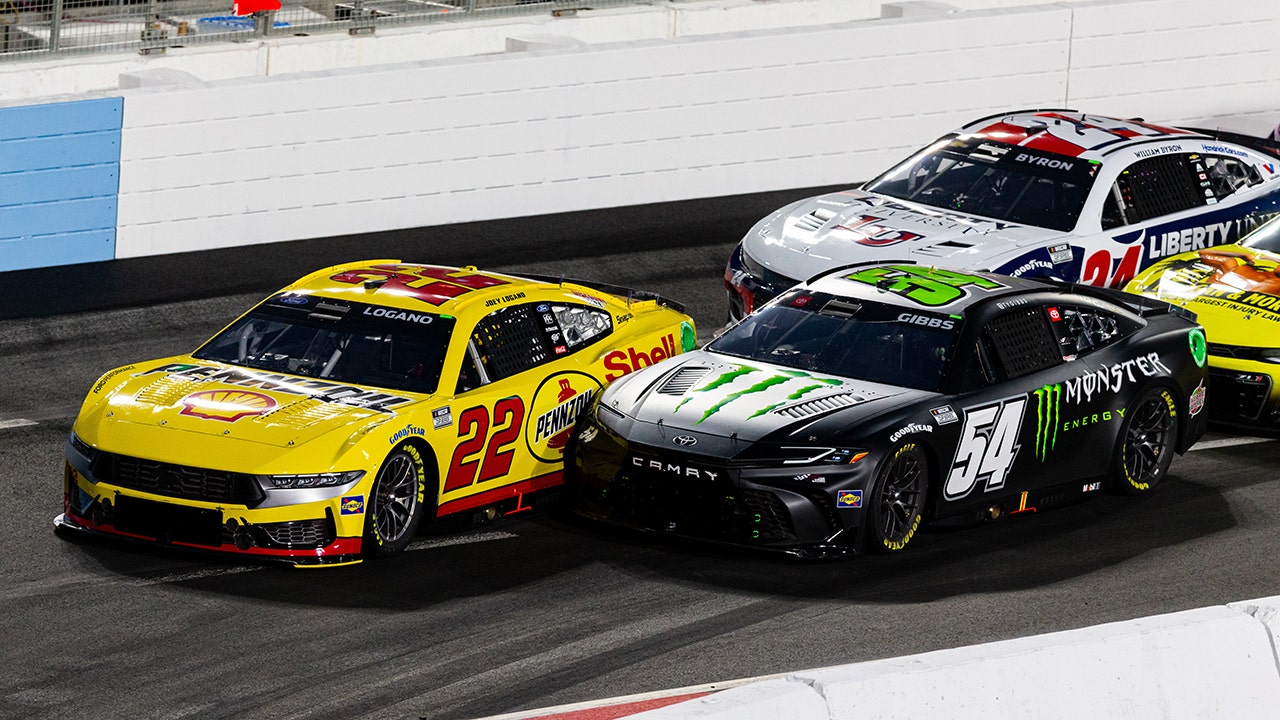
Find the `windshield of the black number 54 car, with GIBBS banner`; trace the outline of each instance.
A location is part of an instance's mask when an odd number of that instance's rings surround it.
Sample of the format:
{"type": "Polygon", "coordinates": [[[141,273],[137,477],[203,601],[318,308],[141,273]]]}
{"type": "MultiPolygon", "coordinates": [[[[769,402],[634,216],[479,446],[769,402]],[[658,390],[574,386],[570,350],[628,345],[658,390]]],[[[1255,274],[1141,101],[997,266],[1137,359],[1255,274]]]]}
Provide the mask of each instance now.
{"type": "Polygon", "coordinates": [[[960,319],[794,290],[707,348],[801,370],[937,391],[960,319]]]}

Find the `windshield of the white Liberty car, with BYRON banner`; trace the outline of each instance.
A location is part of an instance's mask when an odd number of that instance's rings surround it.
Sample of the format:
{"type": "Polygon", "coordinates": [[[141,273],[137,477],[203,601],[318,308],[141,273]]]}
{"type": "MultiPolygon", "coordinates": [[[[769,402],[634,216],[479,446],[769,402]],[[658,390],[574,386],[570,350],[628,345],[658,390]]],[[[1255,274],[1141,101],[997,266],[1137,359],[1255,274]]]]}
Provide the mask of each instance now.
{"type": "Polygon", "coordinates": [[[1070,231],[1100,167],[1094,160],[955,137],[918,152],[865,190],[983,218],[1070,231]]]}

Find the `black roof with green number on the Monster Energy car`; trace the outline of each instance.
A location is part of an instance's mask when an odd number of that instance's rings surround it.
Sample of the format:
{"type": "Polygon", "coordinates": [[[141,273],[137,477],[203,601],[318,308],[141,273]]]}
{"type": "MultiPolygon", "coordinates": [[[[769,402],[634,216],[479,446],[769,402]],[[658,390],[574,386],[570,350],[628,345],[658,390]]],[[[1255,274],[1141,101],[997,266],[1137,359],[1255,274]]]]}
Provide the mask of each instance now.
{"type": "MultiPolygon", "coordinates": [[[[1057,286],[1033,278],[947,270],[911,263],[860,263],[810,278],[806,287],[850,300],[896,305],[904,310],[964,313],[992,299],[1046,292],[1057,286]]],[[[1062,290],[1071,286],[1061,286],[1062,290]]]]}

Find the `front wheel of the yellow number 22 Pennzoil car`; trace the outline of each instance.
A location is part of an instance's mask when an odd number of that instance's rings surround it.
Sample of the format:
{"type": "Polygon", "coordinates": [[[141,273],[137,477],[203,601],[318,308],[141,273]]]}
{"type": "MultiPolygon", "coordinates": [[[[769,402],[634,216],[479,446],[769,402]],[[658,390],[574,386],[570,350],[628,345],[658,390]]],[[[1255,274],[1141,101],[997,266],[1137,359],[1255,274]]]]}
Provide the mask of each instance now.
{"type": "Polygon", "coordinates": [[[412,445],[393,450],[369,491],[365,515],[365,553],[392,557],[417,534],[426,505],[426,462],[412,445]]]}

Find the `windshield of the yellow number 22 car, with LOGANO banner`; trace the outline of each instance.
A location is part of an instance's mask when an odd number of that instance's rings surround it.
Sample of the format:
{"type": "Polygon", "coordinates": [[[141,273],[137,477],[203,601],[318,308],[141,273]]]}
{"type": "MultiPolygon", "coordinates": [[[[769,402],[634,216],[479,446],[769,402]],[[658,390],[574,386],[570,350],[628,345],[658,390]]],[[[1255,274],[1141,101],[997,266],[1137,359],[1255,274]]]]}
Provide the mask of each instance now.
{"type": "Polygon", "coordinates": [[[310,295],[279,295],[195,356],[310,378],[433,393],[453,333],[449,315],[310,295]]]}

